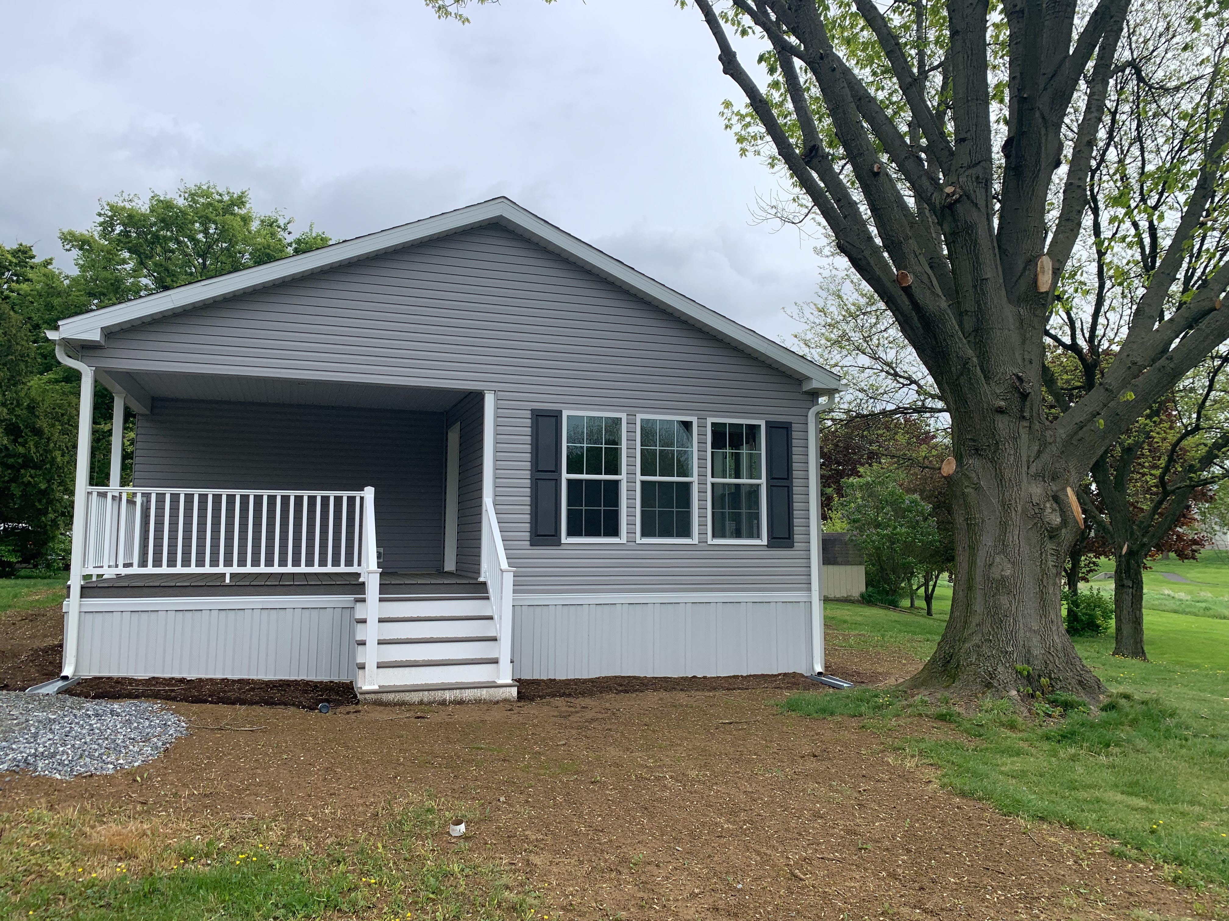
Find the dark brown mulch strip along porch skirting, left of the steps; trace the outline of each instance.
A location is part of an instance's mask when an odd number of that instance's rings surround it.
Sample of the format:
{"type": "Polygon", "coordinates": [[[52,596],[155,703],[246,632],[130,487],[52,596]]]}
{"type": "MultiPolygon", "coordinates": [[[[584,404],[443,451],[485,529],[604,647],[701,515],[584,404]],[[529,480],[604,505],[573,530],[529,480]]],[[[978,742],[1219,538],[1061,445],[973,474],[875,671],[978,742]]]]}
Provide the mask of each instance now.
{"type": "Polygon", "coordinates": [[[229,678],[86,678],[65,694],[77,698],[170,700],[179,704],[248,704],[316,710],[359,702],[349,682],[237,680],[229,678]]]}

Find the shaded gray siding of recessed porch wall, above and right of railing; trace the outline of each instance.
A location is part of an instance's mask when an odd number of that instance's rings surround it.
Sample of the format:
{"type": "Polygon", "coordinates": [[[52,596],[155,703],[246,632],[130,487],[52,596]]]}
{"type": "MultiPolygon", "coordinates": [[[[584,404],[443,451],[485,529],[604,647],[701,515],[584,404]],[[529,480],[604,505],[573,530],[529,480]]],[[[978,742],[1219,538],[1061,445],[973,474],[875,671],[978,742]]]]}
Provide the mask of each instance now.
{"type": "Polygon", "coordinates": [[[444,413],[159,399],[152,414],[136,418],[133,483],[375,486],[383,567],[436,570],[444,565],[444,413]]]}

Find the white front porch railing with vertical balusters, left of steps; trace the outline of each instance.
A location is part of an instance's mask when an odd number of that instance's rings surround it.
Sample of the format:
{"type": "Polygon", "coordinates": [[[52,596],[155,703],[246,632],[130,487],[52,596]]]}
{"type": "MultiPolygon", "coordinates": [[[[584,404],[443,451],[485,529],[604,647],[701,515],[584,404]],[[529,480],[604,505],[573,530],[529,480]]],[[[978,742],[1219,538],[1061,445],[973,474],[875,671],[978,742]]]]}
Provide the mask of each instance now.
{"type": "Polygon", "coordinates": [[[366,572],[375,491],[86,490],[87,576],[366,572]]]}

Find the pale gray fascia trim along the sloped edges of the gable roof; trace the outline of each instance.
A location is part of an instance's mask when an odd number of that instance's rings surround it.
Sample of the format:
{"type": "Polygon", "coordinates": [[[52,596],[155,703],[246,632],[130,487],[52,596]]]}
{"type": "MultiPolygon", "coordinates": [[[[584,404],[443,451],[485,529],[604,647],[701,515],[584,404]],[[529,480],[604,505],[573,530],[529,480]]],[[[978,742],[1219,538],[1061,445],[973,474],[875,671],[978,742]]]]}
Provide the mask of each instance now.
{"type": "Polygon", "coordinates": [[[106,345],[108,333],[493,223],[506,227],[693,327],[729,343],[790,377],[798,378],[804,391],[826,393],[844,389],[841,378],[827,368],[666,287],[660,281],[650,279],[583,239],[578,239],[553,223],[526,211],[508,198],[494,198],[456,211],[446,211],[434,217],[403,223],[399,227],[390,227],[376,233],[333,243],[310,253],[232,271],[229,275],[194,281],[189,285],[117,303],[113,307],[70,317],[60,321],[58,338],[76,345],[106,345]]]}

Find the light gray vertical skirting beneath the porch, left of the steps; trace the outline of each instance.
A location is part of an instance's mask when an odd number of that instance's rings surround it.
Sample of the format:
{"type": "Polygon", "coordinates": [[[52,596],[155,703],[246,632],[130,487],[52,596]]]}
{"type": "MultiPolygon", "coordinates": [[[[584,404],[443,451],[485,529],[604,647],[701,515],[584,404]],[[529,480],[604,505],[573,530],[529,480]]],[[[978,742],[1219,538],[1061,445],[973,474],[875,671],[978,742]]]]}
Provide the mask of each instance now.
{"type": "Polygon", "coordinates": [[[347,682],[354,607],[88,610],[77,650],[81,677],[347,682]]]}

